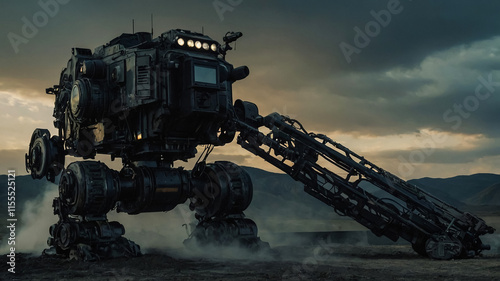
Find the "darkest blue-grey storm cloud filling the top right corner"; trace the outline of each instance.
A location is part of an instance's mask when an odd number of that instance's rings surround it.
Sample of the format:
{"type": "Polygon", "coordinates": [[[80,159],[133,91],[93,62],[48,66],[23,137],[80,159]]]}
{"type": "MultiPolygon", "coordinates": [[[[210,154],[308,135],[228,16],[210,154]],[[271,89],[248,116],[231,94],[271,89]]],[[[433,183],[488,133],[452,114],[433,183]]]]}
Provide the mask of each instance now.
{"type": "MultiPolygon", "coordinates": [[[[356,24],[361,29],[373,20],[369,10],[378,11],[371,2],[364,2],[365,9],[356,10],[365,15],[356,24]]],[[[388,26],[372,38],[361,54],[353,56],[353,69],[411,68],[433,52],[499,34],[500,22],[496,20],[499,2],[402,0],[400,3],[403,10],[392,16],[388,26]]],[[[352,43],[354,33],[339,41],[352,43]]]]}

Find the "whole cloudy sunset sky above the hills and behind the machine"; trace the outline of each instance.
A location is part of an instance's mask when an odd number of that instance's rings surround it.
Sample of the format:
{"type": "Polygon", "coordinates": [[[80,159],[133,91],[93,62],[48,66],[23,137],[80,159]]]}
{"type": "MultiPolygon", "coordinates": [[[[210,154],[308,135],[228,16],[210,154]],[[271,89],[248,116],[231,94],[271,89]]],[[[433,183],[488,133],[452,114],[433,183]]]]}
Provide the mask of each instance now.
{"type": "MultiPolygon", "coordinates": [[[[234,97],[300,120],[405,179],[500,170],[498,1],[0,0],[0,173],[24,172],[72,47],[124,32],[244,36],[234,97]]],[[[106,158],[108,159],[108,158],[106,158]]],[[[209,160],[265,167],[237,145],[209,160]]],[[[119,164],[119,163],[118,163],[119,164]]],[[[115,166],[116,167],[116,163],[115,166]]]]}

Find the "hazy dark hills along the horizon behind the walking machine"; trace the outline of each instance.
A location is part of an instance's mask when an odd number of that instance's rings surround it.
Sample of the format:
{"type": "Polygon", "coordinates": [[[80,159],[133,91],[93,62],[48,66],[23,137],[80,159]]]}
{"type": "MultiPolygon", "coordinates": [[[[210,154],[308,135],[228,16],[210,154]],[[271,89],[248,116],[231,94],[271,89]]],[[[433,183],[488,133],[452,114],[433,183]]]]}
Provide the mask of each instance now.
{"type": "MultiPolygon", "coordinates": [[[[249,217],[275,217],[288,219],[335,219],[332,208],[304,192],[303,184],[286,174],[267,172],[258,168],[244,167],[250,174],[254,196],[246,211],[249,217]]],[[[0,175],[0,182],[7,183],[7,176],[0,175]]],[[[57,182],[57,181],[56,181],[57,182]]],[[[475,174],[452,178],[422,178],[409,182],[444,200],[462,208],[466,205],[500,206],[500,175],[475,174]]],[[[31,176],[16,177],[16,206],[29,200],[37,200],[48,190],[57,190],[57,184],[45,179],[33,180],[31,176]]],[[[376,193],[375,193],[376,194],[376,193]]],[[[7,202],[7,193],[0,193],[2,206],[7,202]]],[[[0,212],[4,219],[6,212],[0,212]]]]}

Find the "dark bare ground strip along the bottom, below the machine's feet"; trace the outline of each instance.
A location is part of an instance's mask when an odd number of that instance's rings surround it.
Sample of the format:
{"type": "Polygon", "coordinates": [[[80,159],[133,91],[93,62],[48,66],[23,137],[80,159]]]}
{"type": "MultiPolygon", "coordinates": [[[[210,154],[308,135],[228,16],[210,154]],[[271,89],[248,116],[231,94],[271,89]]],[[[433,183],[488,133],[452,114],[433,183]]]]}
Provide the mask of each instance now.
{"type": "MultiPolygon", "coordinates": [[[[279,258],[186,257],[178,251],[147,253],[95,263],[17,254],[16,274],[0,259],[2,280],[500,280],[500,254],[435,261],[408,245],[316,243],[274,248],[279,258]],[[175,257],[174,257],[175,256],[175,257]]],[[[212,253],[213,255],[213,253],[212,253]]]]}

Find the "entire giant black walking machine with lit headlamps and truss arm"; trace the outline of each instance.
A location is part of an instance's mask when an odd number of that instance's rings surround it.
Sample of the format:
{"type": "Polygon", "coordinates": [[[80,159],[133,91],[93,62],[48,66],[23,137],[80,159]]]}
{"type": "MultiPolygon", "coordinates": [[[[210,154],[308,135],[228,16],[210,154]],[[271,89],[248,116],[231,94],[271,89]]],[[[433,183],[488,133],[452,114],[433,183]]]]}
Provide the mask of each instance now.
{"type": "MultiPolygon", "coordinates": [[[[495,229],[381,169],[294,119],[260,116],[254,103],[236,100],[232,84],[249,74],[225,60],[242,34],[228,32],[221,45],[187,30],[122,34],[108,44],[73,48],[55,96],[57,136],[33,132],[26,168],[35,179],[59,178],[53,201],[59,221],[50,227],[49,250],[96,260],[140,255],[123,237],[123,225],[106,214],[166,212],[190,200],[198,224],[187,243],[240,244],[262,249],[257,226],[243,211],[252,182],[227,161],[206,163],[214,146],[233,141],[304,183],[305,192],[349,216],[377,236],[400,237],[435,259],[473,257],[489,249],[479,236],[495,229]],[[193,170],[174,161],[195,157],[193,170]],[[65,156],[121,158],[115,171],[97,161],[65,167],[65,156]],[[375,196],[367,183],[378,188],[375,196]]],[[[47,251],[47,252],[50,252],[47,251]]]]}

